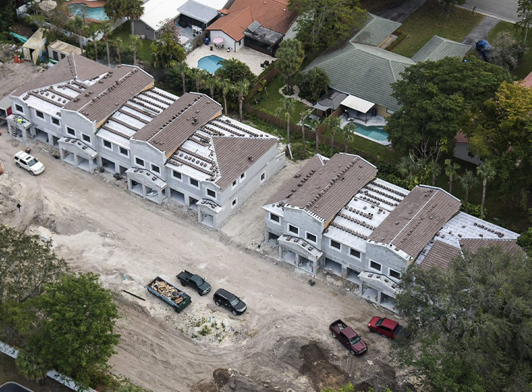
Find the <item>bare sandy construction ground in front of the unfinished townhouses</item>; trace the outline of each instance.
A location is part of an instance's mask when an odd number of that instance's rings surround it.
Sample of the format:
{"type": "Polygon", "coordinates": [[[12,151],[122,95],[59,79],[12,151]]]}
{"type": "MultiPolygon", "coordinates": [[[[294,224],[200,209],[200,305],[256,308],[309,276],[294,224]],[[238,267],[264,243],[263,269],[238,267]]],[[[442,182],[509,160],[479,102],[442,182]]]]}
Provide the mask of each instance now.
{"type": "MultiPolygon", "coordinates": [[[[0,68],[6,81],[0,97],[35,72],[29,64],[0,68]]],[[[262,244],[261,206],[299,164],[289,163],[220,231],[210,231],[197,224],[195,212],[141,199],[124,180],[83,172],[40,144],[29,147],[46,170],[32,177],[12,161],[26,146],[6,131],[0,127],[0,224],[52,238],[73,269],[101,275],[123,316],[110,361],[116,373],[152,391],[310,392],[350,381],[361,390],[415,390],[408,372],[388,359],[391,342],[366,326],[373,315],[393,315],[328,273],[310,286],[311,276],[277,262],[277,249],[262,244]],[[157,275],[177,284],[185,268],[204,276],[213,291],[239,295],[248,311],[235,317],[217,308],[212,295],[189,290],[193,302],[177,314],[144,288],[157,275]],[[333,340],[328,325],[338,318],[362,333],[364,355],[354,357],[333,340]]]]}

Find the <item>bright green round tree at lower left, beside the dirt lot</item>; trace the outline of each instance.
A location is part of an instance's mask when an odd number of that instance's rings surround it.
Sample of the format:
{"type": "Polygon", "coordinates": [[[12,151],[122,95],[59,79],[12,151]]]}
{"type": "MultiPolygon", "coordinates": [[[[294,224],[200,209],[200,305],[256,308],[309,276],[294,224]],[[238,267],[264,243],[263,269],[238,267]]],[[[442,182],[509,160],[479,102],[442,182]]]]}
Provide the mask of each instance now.
{"type": "Polygon", "coordinates": [[[114,332],[118,309],[98,278],[78,273],[48,284],[32,299],[38,312],[26,343],[28,351],[39,353],[40,363],[84,385],[107,369],[119,342],[114,332]]]}

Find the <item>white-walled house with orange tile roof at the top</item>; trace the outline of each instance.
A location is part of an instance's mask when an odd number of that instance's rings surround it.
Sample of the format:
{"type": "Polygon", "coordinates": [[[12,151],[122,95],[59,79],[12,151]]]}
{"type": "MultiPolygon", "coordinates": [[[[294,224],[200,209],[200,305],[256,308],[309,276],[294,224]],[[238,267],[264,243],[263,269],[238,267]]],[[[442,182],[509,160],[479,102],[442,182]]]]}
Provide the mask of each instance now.
{"type": "Polygon", "coordinates": [[[297,17],[286,0],[235,0],[219,12],[223,16],[207,28],[211,41],[219,37],[235,52],[248,46],[272,56],[297,17]]]}

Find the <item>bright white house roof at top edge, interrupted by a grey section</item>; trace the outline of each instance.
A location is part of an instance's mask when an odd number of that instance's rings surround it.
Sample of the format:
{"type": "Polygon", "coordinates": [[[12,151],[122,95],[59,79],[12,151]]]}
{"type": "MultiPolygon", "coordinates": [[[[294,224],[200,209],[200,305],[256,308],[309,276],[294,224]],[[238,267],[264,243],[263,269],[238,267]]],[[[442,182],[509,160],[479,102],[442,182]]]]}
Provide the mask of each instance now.
{"type": "MultiPolygon", "coordinates": [[[[179,8],[188,0],[149,0],[144,3],[144,14],[140,18],[150,28],[157,31],[164,26],[167,19],[179,17],[179,8]]],[[[196,0],[203,6],[221,10],[228,3],[228,0],[196,0]]]]}

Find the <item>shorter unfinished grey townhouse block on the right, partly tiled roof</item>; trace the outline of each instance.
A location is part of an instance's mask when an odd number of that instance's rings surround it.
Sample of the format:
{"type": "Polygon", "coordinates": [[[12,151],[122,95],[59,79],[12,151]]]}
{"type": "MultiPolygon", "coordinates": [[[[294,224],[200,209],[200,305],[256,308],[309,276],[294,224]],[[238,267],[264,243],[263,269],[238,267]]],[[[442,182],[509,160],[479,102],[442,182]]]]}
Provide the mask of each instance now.
{"type": "Polygon", "coordinates": [[[395,310],[401,275],[413,262],[429,270],[479,247],[519,251],[518,234],[460,205],[441,188],[408,191],[379,179],[357,155],[315,155],[262,207],[264,235],[279,243],[282,261],[342,276],[362,297],[395,310]]]}

